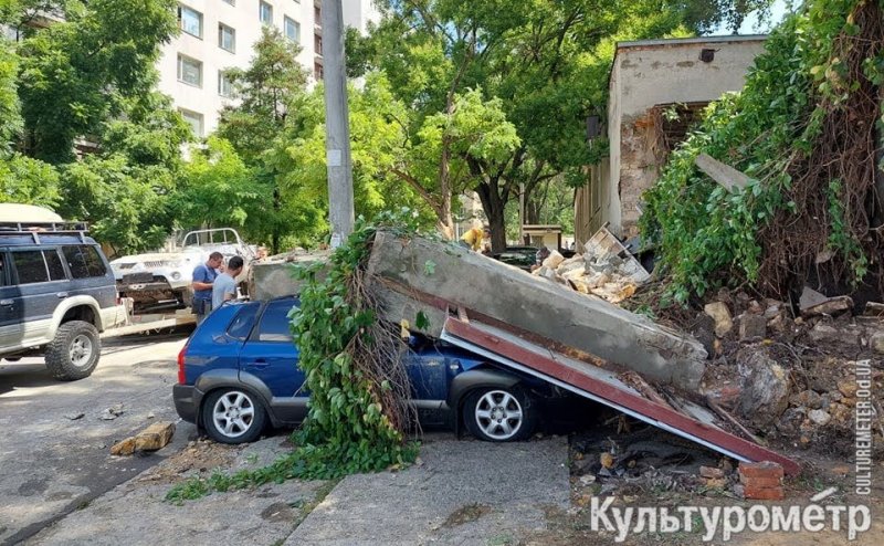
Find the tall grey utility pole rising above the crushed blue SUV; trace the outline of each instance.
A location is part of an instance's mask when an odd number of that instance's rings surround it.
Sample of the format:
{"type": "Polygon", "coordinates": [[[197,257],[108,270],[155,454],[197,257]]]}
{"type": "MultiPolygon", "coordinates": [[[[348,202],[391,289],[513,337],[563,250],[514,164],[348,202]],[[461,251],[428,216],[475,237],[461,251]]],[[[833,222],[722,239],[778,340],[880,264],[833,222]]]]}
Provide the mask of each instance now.
{"type": "Polygon", "coordinates": [[[340,2],[341,0],[323,0],[325,157],[328,166],[328,221],[332,224],[333,249],[347,239],[354,224],[344,9],[340,2]]]}

